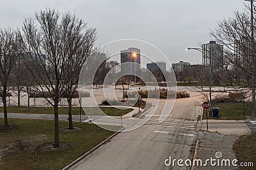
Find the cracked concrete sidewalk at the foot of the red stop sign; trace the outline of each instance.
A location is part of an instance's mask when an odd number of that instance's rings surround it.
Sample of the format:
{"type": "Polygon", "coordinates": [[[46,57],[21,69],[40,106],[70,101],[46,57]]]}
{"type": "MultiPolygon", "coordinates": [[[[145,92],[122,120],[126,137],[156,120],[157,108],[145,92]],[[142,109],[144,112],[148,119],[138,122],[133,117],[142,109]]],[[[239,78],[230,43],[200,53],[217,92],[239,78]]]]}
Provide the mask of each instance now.
{"type": "Polygon", "coordinates": [[[203,164],[206,159],[216,159],[216,166],[211,166],[208,162],[207,166],[195,166],[194,169],[238,169],[232,166],[232,160],[236,159],[232,147],[239,136],[250,134],[246,122],[243,120],[208,120],[208,129],[209,132],[207,132],[206,120],[198,123],[198,145],[194,159],[201,159],[203,164]],[[230,166],[225,166],[225,163],[221,166],[223,159],[230,160],[230,166]],[[220,166],[217,160],[220,160],[220,166]]]}

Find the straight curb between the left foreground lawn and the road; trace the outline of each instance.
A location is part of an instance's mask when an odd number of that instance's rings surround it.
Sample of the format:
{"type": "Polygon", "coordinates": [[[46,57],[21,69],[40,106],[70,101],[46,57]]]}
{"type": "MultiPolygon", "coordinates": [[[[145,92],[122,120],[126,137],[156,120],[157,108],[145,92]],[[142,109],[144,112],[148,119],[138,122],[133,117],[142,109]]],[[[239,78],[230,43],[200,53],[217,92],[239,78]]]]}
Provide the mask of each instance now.
{"type": "Polygon", "coordinates": [[[90,155],[93,151],[97,150],[97,148],[99,148],[100,146],[104,145],[105,143],[107,143],[109,141],[109,139],[115,137],[118,133],[120,133],[121,131],[124,130],[124,127],[118,131],[115,132],[114,134],[112,134],[111,136],[109,136],[109,138],[105,139],[104,141],[100,142],[98,145],[94,146],[91,150],[89,150],[88,152],[84,153],[83,155],[81,155],[81,157],[77,158],[76,160],[74,160],[72,163],[68,164],[67,166],[63,167],[62,170],[68,170],[70,167],[76,165],[79,161],[81,161],[82,159],[84,159],[85,157],[87,157],[88,155],[90,155]]]}

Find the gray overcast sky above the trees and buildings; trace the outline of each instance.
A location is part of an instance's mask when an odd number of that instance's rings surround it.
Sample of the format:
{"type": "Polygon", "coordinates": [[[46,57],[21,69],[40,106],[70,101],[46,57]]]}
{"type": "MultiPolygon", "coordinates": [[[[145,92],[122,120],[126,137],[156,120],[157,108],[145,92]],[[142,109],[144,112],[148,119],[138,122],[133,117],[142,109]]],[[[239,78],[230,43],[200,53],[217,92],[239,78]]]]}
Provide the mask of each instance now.
{"type": "Polygon", "coordinates": [[[170,62],[191,63],[201,62],[200,53],[184,49],[207,43],[209,29],[214,29],[216,22],[244,9],[243,0],[0,1],[1,27],[20,27],[24,17],[45,7],[76,11],[90,27],[97,27],[97,45],[116,39],[141,39],[156,45],[170,62]]]}

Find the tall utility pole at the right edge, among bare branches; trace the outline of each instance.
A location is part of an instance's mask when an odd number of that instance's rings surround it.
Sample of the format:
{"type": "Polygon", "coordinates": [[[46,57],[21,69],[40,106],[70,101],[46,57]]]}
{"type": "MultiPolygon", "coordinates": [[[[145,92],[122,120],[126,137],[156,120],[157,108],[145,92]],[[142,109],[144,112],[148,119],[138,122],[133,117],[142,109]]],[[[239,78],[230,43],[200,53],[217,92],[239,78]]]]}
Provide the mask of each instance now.
{"type": "MultiPolygon", "coordinates": [[[[250,1],[251,2],[251,37],[252,37],[252,49],[254,48],[254,27],[253,27],[253,0],[244,0],[244,1],[250,1]]],[[[251,53],[253,55],[253,52],[251,53]]],[[[253,81],[255,81],[255,78],[253,78],[253,81]]],[[[253,82],[253,89],[252,89],[252,104],[253,104],[253,111],[252,111],[252,117],[255,115],[255,89],[254,89],[255,83],[253,82]]]]}

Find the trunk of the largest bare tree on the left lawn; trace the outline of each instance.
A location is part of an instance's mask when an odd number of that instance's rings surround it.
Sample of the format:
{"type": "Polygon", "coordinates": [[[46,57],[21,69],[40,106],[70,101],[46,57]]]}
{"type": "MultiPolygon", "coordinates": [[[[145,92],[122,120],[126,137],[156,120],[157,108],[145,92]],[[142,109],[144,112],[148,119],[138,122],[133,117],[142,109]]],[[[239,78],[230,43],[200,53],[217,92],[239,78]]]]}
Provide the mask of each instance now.
{"type": "Polygon", "coordinates": [[[54,98],[54,147],[60,147],[60,136],[59,136],[59,111],[58,111],[59,98],[54,98]]]}

